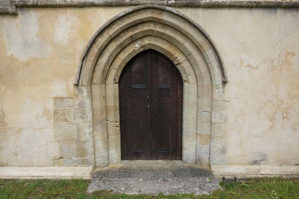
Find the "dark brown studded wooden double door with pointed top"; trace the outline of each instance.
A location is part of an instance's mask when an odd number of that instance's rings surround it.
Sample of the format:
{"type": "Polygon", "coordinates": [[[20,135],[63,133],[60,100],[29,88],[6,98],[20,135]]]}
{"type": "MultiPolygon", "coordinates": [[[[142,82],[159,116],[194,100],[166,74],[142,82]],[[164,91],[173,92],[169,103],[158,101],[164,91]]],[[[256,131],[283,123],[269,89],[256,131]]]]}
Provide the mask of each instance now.
{"type": "Polygon", "coordinates": [[[164,55],[136,55],[119,81],[122,160],[181,160],[183,82],[164,55]]]}

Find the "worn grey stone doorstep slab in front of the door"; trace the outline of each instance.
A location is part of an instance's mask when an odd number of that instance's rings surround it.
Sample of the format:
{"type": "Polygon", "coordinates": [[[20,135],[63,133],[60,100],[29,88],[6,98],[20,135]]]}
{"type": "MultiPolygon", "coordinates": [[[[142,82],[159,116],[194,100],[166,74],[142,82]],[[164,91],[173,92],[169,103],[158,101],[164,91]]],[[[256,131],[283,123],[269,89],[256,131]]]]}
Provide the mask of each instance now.
{"type": "Polygon", "coordinates": [[[122,161],[92,174],[88,193],[112,190],[125,194],[208,194],[220,189],[211,171],[181,161],[122,161]]]}

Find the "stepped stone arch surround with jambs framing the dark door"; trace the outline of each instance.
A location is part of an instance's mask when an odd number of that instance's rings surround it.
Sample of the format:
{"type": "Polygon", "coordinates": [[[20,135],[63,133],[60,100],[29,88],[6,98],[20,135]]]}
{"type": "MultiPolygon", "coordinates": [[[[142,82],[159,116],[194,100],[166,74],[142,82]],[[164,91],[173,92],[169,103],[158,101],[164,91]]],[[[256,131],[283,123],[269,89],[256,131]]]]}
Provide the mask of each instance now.
{"type": "Polygon", "coordinates": [[[76,87],[91,90],[95,166],[121,161],[118,81],[138,53],[168,57],[184,82],[183,154],[187,163],[227,164],[226,83],[221,58],[208,35],[173,8],[141,5],[120,13],[91,38],[76,87]]]}

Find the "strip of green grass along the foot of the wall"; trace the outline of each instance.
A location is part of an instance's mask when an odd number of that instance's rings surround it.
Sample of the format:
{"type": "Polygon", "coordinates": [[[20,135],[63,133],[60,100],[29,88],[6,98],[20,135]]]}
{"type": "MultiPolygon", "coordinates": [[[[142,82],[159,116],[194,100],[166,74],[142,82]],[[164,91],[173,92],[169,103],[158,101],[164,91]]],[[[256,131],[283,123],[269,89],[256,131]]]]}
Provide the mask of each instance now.
{"type": "Polygon", "coordinates": [[[209,195],[125,195],[109,190],[86,193],[88,180],[4,180],[0,199],[299,199],[299,179],[262,178],[227,183],[209,195]]]}

